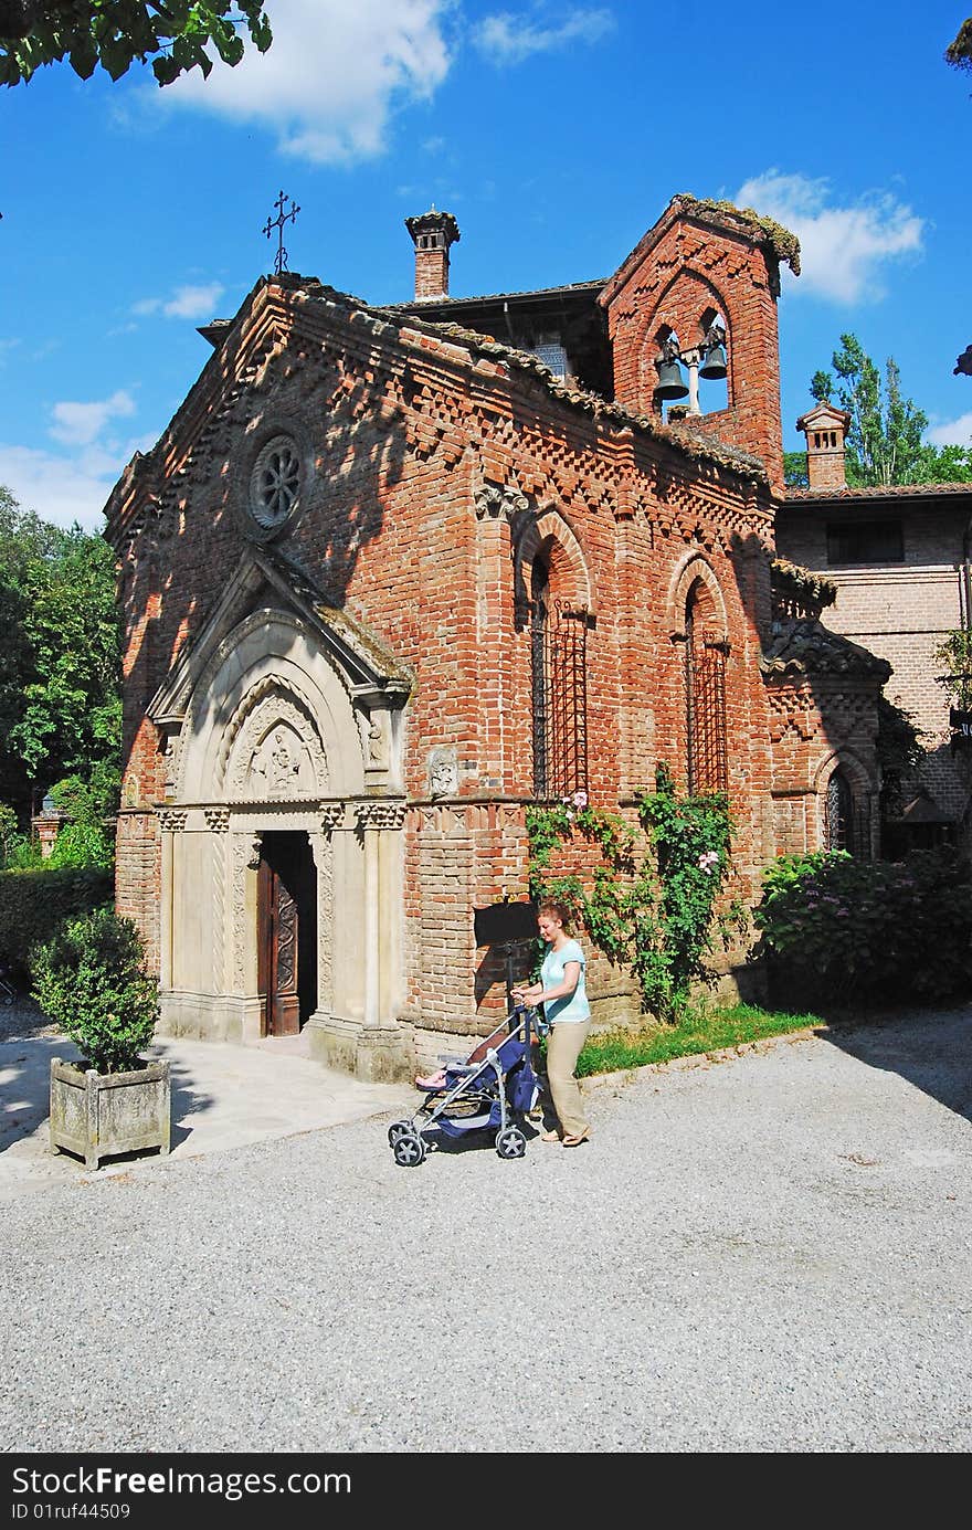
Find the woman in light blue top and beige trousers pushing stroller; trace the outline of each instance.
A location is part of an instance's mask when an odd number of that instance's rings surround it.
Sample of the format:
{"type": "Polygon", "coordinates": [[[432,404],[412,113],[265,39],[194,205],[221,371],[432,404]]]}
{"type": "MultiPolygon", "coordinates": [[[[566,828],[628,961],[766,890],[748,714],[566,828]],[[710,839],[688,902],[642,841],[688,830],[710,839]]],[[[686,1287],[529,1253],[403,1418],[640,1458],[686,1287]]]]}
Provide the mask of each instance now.
{"type": "Polygon", "coordinates": [[[562,903],[542,903],[537,927],[550,950],[540,967],[540,981],[528,988],[513,988],[517,1004],[542,1004],[551,1027],[546,1042],[546,1077],[560,1126],[543,1132],[545,1143],[579,1148],[591,1138],[574,1068],[591,1030],[591,1005],[585,991],[585,956],[566,930],[569,909],[562,903]]]}

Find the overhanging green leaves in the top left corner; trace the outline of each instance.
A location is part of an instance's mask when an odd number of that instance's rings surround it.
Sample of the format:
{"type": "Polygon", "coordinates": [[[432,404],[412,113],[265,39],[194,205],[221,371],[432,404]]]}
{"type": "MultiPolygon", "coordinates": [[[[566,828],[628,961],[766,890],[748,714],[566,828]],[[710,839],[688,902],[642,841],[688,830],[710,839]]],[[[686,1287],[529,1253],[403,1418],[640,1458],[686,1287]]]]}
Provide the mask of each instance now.
{"type": "Polygon", "coordinates": [[[272,34],[262,0],[0,0],[0,84],[66,58],[81,80],[98,66],[119,80],[135,60],[152,61],[167,86],[190,69],[208,75],[210,46],[239,64],[243,28],[266,52],[272,34]]]}

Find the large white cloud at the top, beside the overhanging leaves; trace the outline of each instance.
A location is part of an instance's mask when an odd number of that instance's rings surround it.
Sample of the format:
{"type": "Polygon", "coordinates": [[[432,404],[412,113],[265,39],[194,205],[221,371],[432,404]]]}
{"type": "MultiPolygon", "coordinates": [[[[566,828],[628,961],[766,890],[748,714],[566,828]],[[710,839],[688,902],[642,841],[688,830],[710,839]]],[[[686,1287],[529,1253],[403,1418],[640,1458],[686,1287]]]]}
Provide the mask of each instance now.
{"type": "Polygon", "coordinates": [[[236,69],[199,70],[156,92],[165,106],[265,122],[283,153],[344,164],[381,153],[392,110],[448,73],[442,17],[453,0],[274,0],[272,46],[236,69]]]}

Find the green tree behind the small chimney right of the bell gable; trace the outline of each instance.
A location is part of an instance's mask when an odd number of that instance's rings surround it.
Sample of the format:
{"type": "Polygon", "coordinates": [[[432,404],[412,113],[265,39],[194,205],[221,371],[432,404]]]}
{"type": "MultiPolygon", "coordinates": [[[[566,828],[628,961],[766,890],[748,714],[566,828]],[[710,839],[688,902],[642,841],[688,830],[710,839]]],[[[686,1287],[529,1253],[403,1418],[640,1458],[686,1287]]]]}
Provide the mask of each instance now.
{"type": "Polygon", "coordinates": [[[892,356],[879,367],[856,335],[840,335],[831,372],[814,372],[810,392],[851,416],[846,435],[846,480],[851,488],[892,483],[972,482],[972,447],[932,447],[923,436],[928,415],[902,393],[892,356]],[[834,373],[837,386],[834,386],[834,373]]]}

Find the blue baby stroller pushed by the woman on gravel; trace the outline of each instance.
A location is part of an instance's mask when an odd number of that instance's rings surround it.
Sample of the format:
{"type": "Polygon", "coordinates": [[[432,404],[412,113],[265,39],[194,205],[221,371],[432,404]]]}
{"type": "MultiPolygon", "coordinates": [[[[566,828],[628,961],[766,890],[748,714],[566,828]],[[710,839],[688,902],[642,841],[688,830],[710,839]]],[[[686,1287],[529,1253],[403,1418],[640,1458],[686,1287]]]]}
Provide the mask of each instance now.
{"type": "Polygon", "coordinates": [[[427,1132],[458,1138],[467,1132],[491,1131],[496,1132],[501,1158],[522,1158],[527,1152],[522,1121],[540,1092],[530,1043],[534,1033],[539,1037],[543,1031],[537,1011],[517,1005],[476,1047],[473,1057],[482,1053],[481,1062],[442,1057],[444,1082],[418,1085],[426,1092],[422,1105],[410,1120],[389,1126],[395,1163],[403,1169],[416,1169],[429,1152],[427,1132]]]}

